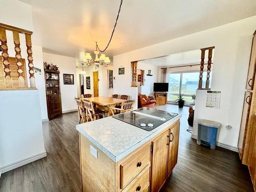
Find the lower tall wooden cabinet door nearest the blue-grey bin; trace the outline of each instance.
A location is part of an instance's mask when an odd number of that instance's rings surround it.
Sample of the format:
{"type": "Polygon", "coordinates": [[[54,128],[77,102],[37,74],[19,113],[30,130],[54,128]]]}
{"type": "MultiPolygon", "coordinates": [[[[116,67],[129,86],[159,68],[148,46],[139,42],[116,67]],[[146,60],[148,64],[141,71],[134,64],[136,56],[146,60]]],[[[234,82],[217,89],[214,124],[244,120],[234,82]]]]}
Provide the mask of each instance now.
{"type": "Polygon", "coordinates": [[[241,160],[243,158],[246,130],[247,130],[248,117],[250,112],[251,96],[252,94],[250,92],[245,92],[242,120],[240,124],[240,133],[239,133],[239,139],[238,139],[238,151],[239,151],[239,156],[241,160]]]}

